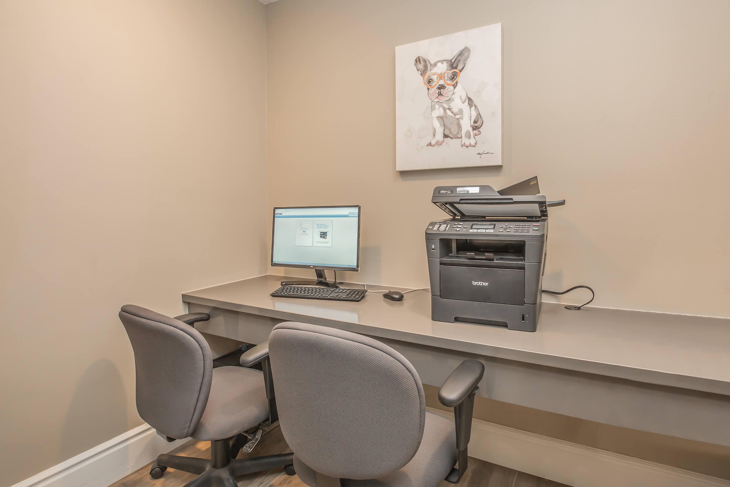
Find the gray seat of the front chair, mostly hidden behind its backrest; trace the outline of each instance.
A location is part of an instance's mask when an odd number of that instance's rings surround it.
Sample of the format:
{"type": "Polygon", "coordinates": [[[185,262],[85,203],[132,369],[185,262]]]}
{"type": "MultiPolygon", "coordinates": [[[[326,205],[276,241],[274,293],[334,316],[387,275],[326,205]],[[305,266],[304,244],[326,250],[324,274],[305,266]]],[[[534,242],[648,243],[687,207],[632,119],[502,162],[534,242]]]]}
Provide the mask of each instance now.
{"type": "MultiPolygon", "coordinates": [[[[437,487],[456,465],[456,427],[426,411],[423,438],[415,456],[400,470],[373,480],[342,480],[343,487],[437,487]]],[[[296,456],[294,469],[307,486],[317,487],[317,474],[296,456]]]]}

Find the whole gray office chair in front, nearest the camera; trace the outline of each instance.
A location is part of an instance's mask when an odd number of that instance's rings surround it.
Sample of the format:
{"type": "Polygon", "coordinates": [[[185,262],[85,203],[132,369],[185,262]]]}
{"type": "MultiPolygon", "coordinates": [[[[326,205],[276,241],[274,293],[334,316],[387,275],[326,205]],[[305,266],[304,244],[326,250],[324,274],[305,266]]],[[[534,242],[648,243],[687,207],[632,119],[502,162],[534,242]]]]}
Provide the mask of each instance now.
{"type": "Polygon", "coordinates": [[[442,404],[455,408],[455,427],[426,412],[418,373],[377,340],[289,322],[274,327],[268,344],[281,430],[307,486],[437,487],[461,480],[484,375],[480,361],[462,362],[439,391],[442,404]]]}

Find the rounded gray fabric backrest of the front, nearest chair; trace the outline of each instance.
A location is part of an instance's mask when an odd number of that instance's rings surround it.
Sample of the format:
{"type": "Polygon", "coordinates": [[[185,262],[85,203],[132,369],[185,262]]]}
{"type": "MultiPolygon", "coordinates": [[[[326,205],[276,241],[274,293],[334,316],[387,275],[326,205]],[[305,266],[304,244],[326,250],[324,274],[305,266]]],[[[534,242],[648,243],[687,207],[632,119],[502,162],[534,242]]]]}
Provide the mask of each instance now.
{"type": "Polygon", "coordinates": [[[426,419],[418,373],[400,353],[362,335],[280,323],[269,336],[284,438],[308,467],[374,479],[413,458],[426,419]]]}

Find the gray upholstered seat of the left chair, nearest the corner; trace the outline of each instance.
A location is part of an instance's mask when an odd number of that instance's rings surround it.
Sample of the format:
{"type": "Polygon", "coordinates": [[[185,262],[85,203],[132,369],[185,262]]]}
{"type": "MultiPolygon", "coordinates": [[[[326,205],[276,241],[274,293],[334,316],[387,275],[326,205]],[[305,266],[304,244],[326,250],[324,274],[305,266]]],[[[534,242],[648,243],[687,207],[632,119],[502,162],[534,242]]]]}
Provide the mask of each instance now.
{"type": "Polygon", "coordinates": [[[196,440],[224,440],[245,432],[269,417],[264,373],[244,367],[213,369],[210,396],[198,426],[196,440]]]}

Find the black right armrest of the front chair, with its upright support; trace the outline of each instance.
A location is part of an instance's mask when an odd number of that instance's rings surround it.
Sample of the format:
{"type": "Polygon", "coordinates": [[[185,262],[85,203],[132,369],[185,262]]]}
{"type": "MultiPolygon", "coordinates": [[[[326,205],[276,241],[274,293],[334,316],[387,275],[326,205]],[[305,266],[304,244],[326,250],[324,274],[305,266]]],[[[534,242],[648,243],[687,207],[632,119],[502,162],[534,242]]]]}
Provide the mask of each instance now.
{"type": "Polygon", "coordinates": [[[472,415],[474,396],[479,390],[479,382],[484,377],[484,364],[477,360],[465,360],[451,372],[449,378],[439,389],[439,401],[454,408],[456,423],[456,450],[458,450],[458,469],[453,469],[446,478],[447,482],[458,483],[469,465],[469,440],[472,439],[472,415]]]}

